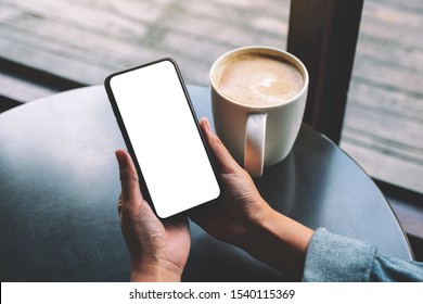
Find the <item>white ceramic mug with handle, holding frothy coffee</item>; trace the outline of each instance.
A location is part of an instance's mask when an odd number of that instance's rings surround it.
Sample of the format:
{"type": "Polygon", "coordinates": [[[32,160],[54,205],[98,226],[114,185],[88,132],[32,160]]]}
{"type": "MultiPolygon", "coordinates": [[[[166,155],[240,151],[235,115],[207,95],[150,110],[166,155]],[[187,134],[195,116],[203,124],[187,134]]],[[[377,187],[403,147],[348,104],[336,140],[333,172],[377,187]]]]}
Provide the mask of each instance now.
{"type": "Polygon", "coordinates": [[[308,72],[293,54],[270,47],[244,47],[222,54],[209,74],[216,131],[232,156],[253,176],[260,177],[292,150],[302,125],[308,91],[308,72]],[[218,69],[241,54],[266,54],[293,64],[303,76],[302,89],[287,101],[273,105],[246,105],[221,93],[218,69]]]}

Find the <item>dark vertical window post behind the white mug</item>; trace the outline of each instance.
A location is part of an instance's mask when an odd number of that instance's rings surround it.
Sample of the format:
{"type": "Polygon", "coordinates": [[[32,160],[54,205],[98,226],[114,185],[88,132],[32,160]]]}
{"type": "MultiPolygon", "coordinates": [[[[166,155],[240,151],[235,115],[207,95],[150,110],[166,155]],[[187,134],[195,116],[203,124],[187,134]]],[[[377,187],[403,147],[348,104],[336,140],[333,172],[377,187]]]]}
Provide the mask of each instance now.
{"type": "Polygon", "coordinates": [[[363,0],[291,0],[287,51],[309,72],[304,122],[341,141],[363,0]]]}

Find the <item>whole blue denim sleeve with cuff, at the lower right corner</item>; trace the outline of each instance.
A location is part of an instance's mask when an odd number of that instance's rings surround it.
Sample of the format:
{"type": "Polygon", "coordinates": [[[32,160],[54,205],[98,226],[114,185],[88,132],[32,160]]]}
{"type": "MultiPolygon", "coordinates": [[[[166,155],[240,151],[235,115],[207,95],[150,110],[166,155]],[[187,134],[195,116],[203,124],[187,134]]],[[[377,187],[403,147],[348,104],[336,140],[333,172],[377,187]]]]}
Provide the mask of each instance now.
{"type": "Polygon", "coordinates": [[[423,281],[423,263],[380,255],[371,243],[320,228],[307,251],[303,281],[423,281]]]}

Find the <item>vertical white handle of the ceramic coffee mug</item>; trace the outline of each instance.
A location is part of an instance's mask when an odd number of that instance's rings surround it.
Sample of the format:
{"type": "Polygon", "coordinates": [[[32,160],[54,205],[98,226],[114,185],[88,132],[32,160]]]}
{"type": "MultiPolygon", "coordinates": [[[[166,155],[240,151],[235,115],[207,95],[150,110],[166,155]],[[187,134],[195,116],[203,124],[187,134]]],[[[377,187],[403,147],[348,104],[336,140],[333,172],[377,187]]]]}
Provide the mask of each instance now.
{"type": "Polygon", "coordinates": [[[260,177],[265,164],[266,113],[249,114],[245,127],[244,168],[260,177]]]}

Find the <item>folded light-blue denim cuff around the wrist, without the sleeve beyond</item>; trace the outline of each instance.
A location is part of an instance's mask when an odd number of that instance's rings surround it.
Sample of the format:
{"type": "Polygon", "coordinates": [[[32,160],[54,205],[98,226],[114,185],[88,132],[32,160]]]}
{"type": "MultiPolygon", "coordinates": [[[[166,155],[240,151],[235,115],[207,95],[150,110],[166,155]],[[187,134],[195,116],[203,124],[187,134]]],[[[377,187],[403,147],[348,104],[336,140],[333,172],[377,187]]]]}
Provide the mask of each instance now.
{"type": "Polygon", "coordinates": [[[371,243],[319,228],[307,250],[303,281],[367,282],[376,250],[371,243]]]}

